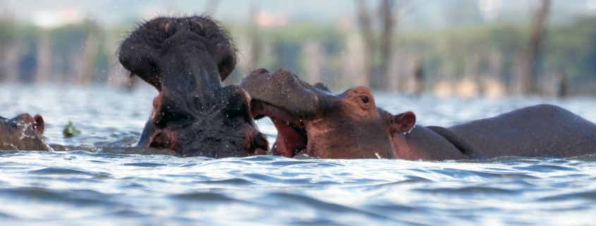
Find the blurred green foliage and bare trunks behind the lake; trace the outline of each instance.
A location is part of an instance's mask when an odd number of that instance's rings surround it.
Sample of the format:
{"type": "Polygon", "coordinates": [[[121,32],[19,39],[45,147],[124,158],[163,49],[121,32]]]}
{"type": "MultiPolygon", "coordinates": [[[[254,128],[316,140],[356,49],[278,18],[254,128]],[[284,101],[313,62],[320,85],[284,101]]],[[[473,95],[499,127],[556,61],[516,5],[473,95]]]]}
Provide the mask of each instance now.
{"type": "MultiPolygon", "coordinates": [[[[557,1],[563,0],[554,0],[547,13],[557,12],[557,1]]],[[[576,1],[596,5],[591,0],[576,1]]],[[[527,92],[521,62],[528,56],[537,26],[533,12],[545,2],[513,4],[526,7],[516,11],[521,19],[512,19],[515,13],[489,14],[492,11],[482,5],[487,3],[500,3],[501,11],[508,11],[507,1],[443,2],[451,6],[442,14],[449,20],[437,26],[417,25],[410,15],[425,5],[413,1],[340,1],[336,4],[351,4],[351,11],[344,7],[336,18],[316,20],[284,18],[260,8],[266,8],[267,1],[253,1],[240,10],[245,19],[221,19],[239,50],[238,66],[226,83],[238,83],[256,68],[289,68],[303,80],[326,83],[335,91],[365,85],[438,96],[596,95],[596,13],[562,16],[559,12],[547,18],[535,59],[529,63],[536,89],[527,92]],[[382,4],[389,4],[391,11],[383,14],[387,5],[382,4]],[[363,19],[370,20],[367,27],[363,19]],[[374,44],[367,44],[367,35],[374,44]]],[[[20,11],[8,7],[11,4],[0,1],[0,82],[109,84],[126,89],[140,84],[129,79],[116,61],[116,51],[135,24],[154,15],[114,25],[83,13],[78,20],[44,26],[23,21],[20,11]]],[[[218,18],[226,13],[224,4],[228,3],[199,1],[190,6],[218,18]]],[[[169,11],[177,12],[175,7],[169,11]]],[[[166,14],[171,13],[156,15],[166,14]]]]}

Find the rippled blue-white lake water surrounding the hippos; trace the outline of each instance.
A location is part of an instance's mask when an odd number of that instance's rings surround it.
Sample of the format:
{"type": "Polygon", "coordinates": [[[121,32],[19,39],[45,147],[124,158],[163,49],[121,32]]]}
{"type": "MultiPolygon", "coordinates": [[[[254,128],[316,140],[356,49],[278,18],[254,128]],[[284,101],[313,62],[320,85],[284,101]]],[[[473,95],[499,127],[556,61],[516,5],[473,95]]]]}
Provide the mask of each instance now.
{"type": "MultiPolygon", "coordinates": [[[[488,161],[177,158],[132,146],[157,92],[0,86],[0,115],[41,113],[54,152],[0,152],[0,225],[593,225],[596,155],[488,161]],[[72,121],[82,134],[66,138],[72,121]],[[83,150],[83,151],[81,151],[83,150]]],[[[536,103],[596,122],[595,99],[377,94],[391,113],[449,126],[536,103]]],[[[270,141],[275,129],[260,120],[270,141]]]]}

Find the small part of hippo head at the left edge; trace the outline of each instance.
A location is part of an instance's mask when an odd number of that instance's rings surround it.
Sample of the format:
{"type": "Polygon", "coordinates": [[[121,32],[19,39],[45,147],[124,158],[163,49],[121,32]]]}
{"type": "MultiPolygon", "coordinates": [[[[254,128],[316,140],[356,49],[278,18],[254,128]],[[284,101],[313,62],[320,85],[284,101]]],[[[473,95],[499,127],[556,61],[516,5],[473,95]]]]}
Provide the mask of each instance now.
{"type": "Polygon", "coordinates": [[[0,150],[51,151],[42,137],[44,118],[24,113],[12,119],[0,117],[0,150]]]}

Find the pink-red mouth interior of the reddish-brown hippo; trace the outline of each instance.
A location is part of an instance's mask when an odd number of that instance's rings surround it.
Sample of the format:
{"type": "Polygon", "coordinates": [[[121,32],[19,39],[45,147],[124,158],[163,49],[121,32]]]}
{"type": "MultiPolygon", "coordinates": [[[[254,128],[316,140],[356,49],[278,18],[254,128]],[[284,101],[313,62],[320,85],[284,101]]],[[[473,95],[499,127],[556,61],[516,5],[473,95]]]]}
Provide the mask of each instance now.
{"type": "Polygon", "coordinates": [[[307,120],[291,115],[272,104],[253,99],[250,102],[253,118],[267,116],[277,130],[277,139],[271,153],[276,156],[292,158],[308,153],[307,120]]]}

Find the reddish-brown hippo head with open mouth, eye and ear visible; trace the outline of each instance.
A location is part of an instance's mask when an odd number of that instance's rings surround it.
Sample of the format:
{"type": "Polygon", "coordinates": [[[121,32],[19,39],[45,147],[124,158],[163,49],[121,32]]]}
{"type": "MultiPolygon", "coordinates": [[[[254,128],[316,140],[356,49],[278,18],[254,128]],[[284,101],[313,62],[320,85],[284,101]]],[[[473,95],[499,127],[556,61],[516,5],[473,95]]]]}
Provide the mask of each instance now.
{"type": "Polygon", "coordinates": [[[307,84],[288,70],[255,70],[241,87],[252,97],[255,118],[267,116],[278,135],[272,153],[293,157],[396,158],[393,137],[412,130],[415,115],[377,108],[366,87],[334,95],[323,84],[307,84]]]}

